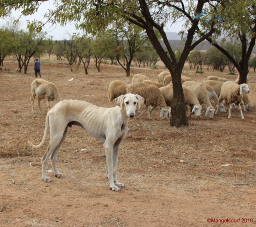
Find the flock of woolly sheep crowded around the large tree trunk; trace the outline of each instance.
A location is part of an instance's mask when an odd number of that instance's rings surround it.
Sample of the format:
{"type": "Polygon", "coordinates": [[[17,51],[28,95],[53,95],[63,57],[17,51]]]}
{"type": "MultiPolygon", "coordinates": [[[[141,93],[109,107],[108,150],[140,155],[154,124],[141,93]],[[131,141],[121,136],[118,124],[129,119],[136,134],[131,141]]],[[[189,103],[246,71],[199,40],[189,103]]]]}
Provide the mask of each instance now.
{"type": "MultiPolygon", "coordinates": [[[[196,117],[200,117],[202,105],[205,105],[205,116],[210,119],[213,119],[214,113],[217,114],[218,111],[226,112],[226,108],[230,119],[231,110],[237,105],[241,118],[244,119],[240,104],[246,111],[251,109],[252,103],[248,96],[250,91],[248,85],[246,83],[238,85],[238,79],[233,82],[218,76],[208,76],[199,83],[189,77],[181,76],[187,116],[190,117],[191,113],[195,113],[196,117]]],[[[120,80],[112,81],[108,88],[110,106],[112,107],[115,98],[127,93],[138,94],[145,99],[146,107],[138,117],[148,110],[148,118],[151,119],[151,112],[157,106],[160,107],[160,117],[164,119],[170,117],[173,88],[169,72],[161,72],[158,75],[158,82],[149,80],[147,76],[141,74],[135,74],[130,84],[120,80]]]]}

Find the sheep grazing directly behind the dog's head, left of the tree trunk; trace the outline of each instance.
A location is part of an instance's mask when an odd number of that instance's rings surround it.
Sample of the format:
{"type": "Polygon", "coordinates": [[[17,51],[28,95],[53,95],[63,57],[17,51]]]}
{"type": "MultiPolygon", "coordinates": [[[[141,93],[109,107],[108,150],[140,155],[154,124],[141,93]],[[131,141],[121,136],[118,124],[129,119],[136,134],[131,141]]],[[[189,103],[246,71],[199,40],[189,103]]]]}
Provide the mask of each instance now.
{"type": "Polygon", "coordinates": [[[142,82],[133,82],[127,86],[127,93],[138,94],[145,100],[146,108],[140,113],[138,118],[148,110],[148,118],[152,119],[150,116],[151,112],[157,106],[161,108],[160,117],[164,119],[168,117],[169,109],[158,87],[142,82]],[[151,110],[149,109],[150,106],[152,106],[151,110]]]}

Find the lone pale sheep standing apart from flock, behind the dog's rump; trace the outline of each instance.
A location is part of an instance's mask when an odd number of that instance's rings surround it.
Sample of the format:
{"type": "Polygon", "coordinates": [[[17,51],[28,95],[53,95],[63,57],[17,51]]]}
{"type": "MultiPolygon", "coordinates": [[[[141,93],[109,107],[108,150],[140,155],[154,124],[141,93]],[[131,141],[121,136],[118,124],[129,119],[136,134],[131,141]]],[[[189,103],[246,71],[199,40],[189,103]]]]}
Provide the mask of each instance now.
{"type": "Polygon", "coordinates": [[[50,109],[50,101],[53,101],[53,100],[56,100],[57,102],[60,101],[60,95],[56,85],[52,82],[42,80],[42,79],[35,79],[31,83],[30,100],[32,102],[33,113],[35,113],[34,100],[36,96],[38,98],[38,107],[41,113],[42,113],[41,106],[40,106],[41,99],[45,98],[48,111],[50,109]]]}

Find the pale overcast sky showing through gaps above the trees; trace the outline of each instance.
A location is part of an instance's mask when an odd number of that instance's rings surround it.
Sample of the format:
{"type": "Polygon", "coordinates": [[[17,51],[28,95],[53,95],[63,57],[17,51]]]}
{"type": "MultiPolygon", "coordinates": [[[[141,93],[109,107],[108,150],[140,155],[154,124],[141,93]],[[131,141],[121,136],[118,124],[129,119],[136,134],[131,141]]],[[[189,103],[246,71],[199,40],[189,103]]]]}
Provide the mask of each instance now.
{"type": "MultiPolygon", "coordinates": [[[[44,14],[47,12],[47,9],[54,9],[53,6],[53,1],[46,1],[41,4],[41,6],[38,9],[38,12],[31,15],[21,17],[20,24],[21,24],[21,29],[27,30],[27,20],[28,21],[33,21],[33,20],[38,20],[38,21],[43,21],[45,22],[46,20],[43,18],[44,14]]],[[[13,12],[12,17],[17,19],[17,15],[20,15],[20,12],[13,12]]],[[[9,20],[9,19],[6,19],[9,20]]],[[[0,19],[0,24],[4,25],[5,20],[0,19]]],[[[166,31],[172,31],[172,32],[179,32],[181,30],[182,23],[177,23],[171,26],[170,28],[167,28],[166,31]]],[[[43,31],[47,32],[47,37],[53,37],[53,40],[63,40],[63,39],[69,39],[70,35],[72,35],[74,32],[78,32],[75,29],[75,24],[67,24],[65,27],[61,27],[60,25],[54,25],[51,27],[51,24],[45,24],[43,27],[43,31]]],[[[80,34],[82,34],[82,31],[79,31],[80,34]]]]}

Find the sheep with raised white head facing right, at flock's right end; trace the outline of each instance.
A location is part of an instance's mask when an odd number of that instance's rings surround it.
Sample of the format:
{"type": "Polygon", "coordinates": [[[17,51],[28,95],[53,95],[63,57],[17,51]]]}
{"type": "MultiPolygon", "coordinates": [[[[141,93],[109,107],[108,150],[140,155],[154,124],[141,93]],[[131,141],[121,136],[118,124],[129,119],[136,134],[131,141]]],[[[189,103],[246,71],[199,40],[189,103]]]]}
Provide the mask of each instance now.
{"type": "MultiPolygon", "coordinates": [[[[224,100],[227,104],[228,107],[228,119],[231,119],[231,110],[232,110],[232,105],[233,104],[238,104],[238,108],[241,113],[241,118],[242,120],[244,119],[243,113],[242,113],[242,108],[241,108],[241,101],[243,98],[242,92],[249,93],[249,87],[246,83],[243,83],[241,85],[238,85],[237,83],[233,81],[226,81],[223,83],[221,86],[221,91],[220,91],[220,96],[219,96],[219,103],[224,100]]],[[[218,113],[218,109],[216,110],[215,114],[218,113]]]]}

